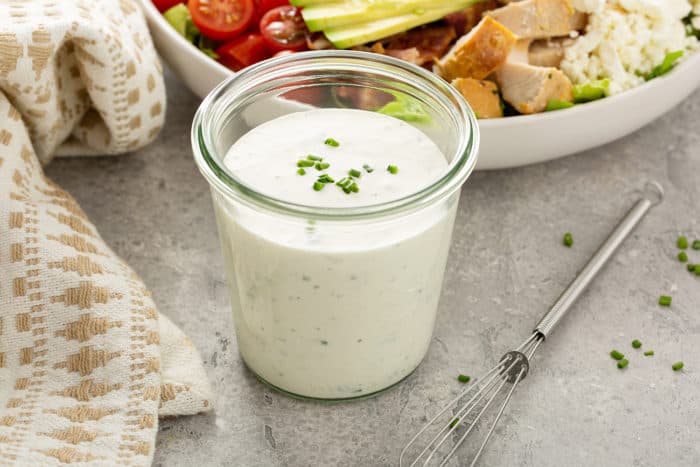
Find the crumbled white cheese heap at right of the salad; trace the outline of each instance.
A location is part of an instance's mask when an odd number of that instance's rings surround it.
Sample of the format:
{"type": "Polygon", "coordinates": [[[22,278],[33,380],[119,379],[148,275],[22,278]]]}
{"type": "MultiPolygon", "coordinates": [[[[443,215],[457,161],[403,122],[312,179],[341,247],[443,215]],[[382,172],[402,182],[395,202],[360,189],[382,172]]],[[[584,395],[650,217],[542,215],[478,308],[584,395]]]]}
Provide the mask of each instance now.
{"type": "Polygon", "coordinates": [[[682,19],[700,0],[573,0],[590,11],[586,32],[566,50],[561,69],[575,83],[608,78],[608,94],[644,82],[669,52],[692,50],[698,41],[687,37],[682,19]]]}

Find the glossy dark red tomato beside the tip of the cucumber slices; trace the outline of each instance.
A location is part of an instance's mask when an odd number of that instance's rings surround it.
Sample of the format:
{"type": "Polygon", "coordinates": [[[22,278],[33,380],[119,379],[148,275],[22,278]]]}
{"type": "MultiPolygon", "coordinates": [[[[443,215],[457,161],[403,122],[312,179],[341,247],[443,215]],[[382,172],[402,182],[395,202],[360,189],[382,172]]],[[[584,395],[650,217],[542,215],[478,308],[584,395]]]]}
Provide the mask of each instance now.
{"type": "Polygon", "coordinates": [[[260,33],[272,50],[306,48],[306,24],[301,11],[293,6],[280,6],[265,13],[260,20],[260,33]]]}

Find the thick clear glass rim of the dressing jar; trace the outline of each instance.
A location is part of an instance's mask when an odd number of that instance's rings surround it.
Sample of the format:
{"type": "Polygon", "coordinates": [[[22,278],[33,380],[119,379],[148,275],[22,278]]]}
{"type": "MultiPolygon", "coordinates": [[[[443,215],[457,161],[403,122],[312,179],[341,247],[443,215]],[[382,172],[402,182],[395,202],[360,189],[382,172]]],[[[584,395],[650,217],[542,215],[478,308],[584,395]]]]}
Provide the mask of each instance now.
{"type": "Polygon", "coordinates": [[[252,65],[221,82],[200,104],[191,129],[191,143],[195,162],[209,184],[219,193],[237,201],[265,210],[317,219],[362,219],[392,215],[406,210],[417,210],[450,196],[459,189],[476,165],[479,148],[479,128],[476,115],[462,95],[449,83],[417,65],[376,53],[321,50],[300,52],[265,60],[252,65]],[[450,114],[457,130],[459,143],[447,170],[430,185],[401,198],[376,204],[352,207],[320,207],[285,201],[261,193],[228,173],[214,150],[213,127],[217,104],[231,93],[243,93],[263,83],[264,77],[294,72],[323,72],[328,65],[343,66],[353,72],[403,74],[410,78],[410,86],[420,89],[437,100],[450,114]]]}

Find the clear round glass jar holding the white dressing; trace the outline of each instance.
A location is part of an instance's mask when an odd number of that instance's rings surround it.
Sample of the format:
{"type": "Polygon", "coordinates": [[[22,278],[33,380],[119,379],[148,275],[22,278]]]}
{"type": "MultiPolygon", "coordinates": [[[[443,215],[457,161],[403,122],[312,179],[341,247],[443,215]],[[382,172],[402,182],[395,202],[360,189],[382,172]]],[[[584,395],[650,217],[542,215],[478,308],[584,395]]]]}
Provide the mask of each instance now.
{"type": "Polygon", "coordinates": [[[209,94],[192,146],[211,186],[238,349],[255,375],[292,396],[342,400],[376,394],[416,369],[478,141],[473,112],[448,83],[378,54],[293,54],[209,94]],[[319,208],[260,193],[224,165],[250,129],[316,107],[401,118],[433,140],[448,167],[400,199],[319,208]]]}

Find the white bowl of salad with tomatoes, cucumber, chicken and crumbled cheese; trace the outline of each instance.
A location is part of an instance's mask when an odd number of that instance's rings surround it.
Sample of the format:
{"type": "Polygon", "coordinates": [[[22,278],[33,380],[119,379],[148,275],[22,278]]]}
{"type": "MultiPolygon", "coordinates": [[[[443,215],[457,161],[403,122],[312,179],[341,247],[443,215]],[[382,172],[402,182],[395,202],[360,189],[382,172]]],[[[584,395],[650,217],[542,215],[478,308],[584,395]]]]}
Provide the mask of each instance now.
{"type": "MultiPolygon", "coordinates": [[[[246,66],[305,50],[428,68],[479,117],[477,169],[610,142],[700,86],[700,0],[141,2],[160,54],[200,97],[246,66]]],[[[387,105],[386,96],[333,98],[387,105]]]]}

